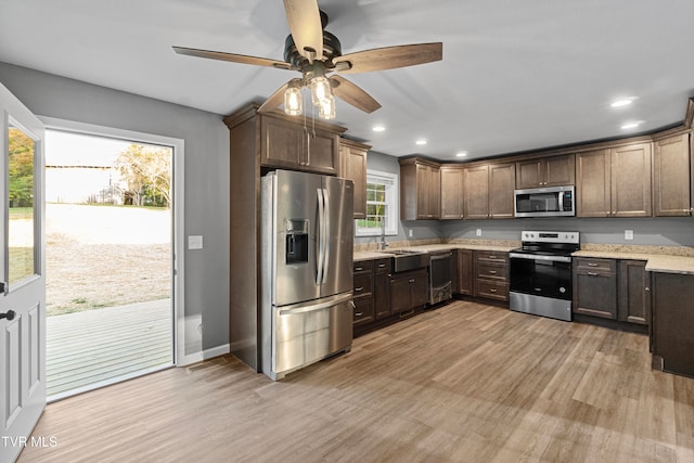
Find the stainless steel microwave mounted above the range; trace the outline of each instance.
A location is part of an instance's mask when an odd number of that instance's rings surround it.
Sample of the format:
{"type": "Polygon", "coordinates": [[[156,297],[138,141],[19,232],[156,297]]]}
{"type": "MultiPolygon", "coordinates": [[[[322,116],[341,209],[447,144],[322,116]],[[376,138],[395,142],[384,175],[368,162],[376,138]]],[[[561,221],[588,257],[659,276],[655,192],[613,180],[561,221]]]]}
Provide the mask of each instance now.
{"type": "Polygon", "coordinates": [[[574,185],[514,190],[516,217],[576,216],[574,185]]]}

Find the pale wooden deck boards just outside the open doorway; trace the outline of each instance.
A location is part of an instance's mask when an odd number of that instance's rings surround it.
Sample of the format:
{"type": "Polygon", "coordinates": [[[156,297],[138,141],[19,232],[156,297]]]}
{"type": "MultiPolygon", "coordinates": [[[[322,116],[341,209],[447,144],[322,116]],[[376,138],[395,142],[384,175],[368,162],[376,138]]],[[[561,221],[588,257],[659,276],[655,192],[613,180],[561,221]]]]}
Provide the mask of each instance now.
{"type": "Polygon", "coordinates": [[[49,317],[49,400],[112,384],[172,363],[171,300],[49,317]]]}

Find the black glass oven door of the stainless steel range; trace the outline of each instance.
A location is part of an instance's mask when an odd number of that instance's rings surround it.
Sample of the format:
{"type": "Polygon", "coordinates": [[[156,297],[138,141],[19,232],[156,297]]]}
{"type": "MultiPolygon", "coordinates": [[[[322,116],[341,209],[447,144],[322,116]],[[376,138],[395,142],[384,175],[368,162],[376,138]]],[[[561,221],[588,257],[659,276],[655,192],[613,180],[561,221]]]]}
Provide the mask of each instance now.
{"type": "Polygon", "coordinates": [[[510,258],[511,292],[571,300],[570,256],[511,253],[510,258]]]}

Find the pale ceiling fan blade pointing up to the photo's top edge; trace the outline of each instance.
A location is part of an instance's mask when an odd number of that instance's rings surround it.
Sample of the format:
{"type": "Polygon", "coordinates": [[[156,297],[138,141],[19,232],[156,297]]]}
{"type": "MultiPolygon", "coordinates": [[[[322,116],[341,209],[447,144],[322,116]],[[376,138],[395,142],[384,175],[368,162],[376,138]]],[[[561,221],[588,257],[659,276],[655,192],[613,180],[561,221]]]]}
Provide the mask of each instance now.
{"type": "Polygon", "coordinates": [[[284,0],[286,21],[296,44],[303,55],[312,61],[323,59],[323,27],[317,0],[284,0]]]}

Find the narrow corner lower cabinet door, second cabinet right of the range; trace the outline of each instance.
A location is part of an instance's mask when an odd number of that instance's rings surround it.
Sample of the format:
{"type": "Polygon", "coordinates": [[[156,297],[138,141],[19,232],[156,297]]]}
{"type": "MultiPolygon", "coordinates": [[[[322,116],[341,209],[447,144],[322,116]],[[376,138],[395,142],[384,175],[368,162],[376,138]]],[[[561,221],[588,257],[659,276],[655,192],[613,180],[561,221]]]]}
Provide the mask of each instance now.
{"type": "Polygon", "coordinates": [[[651,318],[651,275],[643,260],[619,261],[617,320],[647,325],[651,318]]]}

